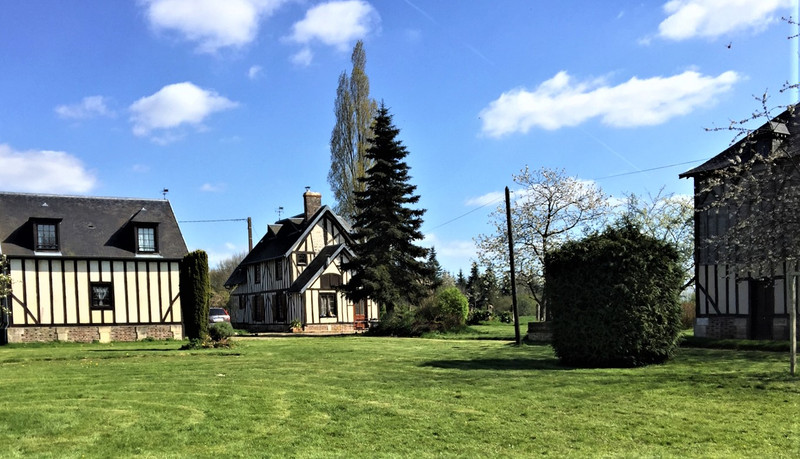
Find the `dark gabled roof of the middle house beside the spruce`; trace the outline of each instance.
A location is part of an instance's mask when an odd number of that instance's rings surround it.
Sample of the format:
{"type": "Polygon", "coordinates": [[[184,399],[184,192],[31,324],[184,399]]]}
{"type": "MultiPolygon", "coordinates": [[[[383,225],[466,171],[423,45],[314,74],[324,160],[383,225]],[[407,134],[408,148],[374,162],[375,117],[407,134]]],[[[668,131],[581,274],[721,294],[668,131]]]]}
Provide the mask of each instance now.
{"type": "Polygon", "coordinates": [[[349,240],[350,226],[336,215],[330,207],[322,206],[308,220],[303,215],[296,215],[290,218],[278,220],[267,227],[267,234],[258,241],[253,250],[244,257],[244,260],[233,271],[225,282],[226,287],[243,284],[247,281],[245,267],[253,263],[261,263],[276,258],[289,256],[297,245],[311,232],[311,229],[325,216],[330,216],[339,225],[339,229],[345,238],[349,240]]]}

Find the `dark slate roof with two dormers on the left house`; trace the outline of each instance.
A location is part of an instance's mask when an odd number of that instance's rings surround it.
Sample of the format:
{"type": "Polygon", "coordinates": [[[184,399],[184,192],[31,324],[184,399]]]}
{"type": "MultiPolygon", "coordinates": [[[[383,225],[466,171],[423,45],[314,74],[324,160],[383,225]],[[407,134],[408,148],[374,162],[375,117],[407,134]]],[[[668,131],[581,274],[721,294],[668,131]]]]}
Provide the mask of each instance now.
{"type": "MultiPolygon", "coordinates": [[[[59,222],[62,257],[181,259],[188,252],[169,201],[0,193],[0,253],[32,257],[33,222],[59,222]],[[157,224],[158,253],[137,256],[134,226],[157,224]]],[[[52,255],[52,254],[48,254],[52,255]]]]}

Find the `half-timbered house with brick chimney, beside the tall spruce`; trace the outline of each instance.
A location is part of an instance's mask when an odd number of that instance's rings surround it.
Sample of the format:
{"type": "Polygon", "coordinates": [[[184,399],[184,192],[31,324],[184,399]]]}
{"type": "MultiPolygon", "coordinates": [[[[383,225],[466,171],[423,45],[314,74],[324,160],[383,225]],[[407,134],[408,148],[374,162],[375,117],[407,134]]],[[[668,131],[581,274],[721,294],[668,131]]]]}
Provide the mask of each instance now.
{"type": "Polygon", "coordinates": [[[377,320],[372,301],[348,302],[338,286],[349,281],[342,262],[353,254],[350,228],[319,193],[303,194],[304,212],[269,225],[234,270],[231,322],[251,331],[355,332],[377,320]]]}

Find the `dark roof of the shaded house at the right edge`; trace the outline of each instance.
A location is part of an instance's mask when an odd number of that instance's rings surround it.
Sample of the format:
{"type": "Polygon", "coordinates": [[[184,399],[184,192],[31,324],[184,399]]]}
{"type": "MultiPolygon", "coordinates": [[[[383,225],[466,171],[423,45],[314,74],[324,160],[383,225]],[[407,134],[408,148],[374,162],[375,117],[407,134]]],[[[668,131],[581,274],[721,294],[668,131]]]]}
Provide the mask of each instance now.
{"type": "Polygon", "coordinates": [[[798,125],[799,120],[798,113],[796,111],[798,109],[800,109],[800,106],[794,107],[794,110],[785,110],[780,115],[754,130],[748,137],[739,140],[735,144],[722,151],[722,153],[714,156],[703,164],[679,174],[678,177],[696,177],[708,172],[724,169],[732,164],[733,159],[737,155],[741,156],[743,161],[747,161],[753,157],[753,155],[756,153],[756,149],[747,147],[746,143],[765,137],[771,137],[772,139],[786,139],[792,137],[793,140],[789,142],[787,153],[790,156],[796,156],[800,154],[800,143],[798,143],[797,140],[794,140],[800,137],[800,125],[798,125]]]}

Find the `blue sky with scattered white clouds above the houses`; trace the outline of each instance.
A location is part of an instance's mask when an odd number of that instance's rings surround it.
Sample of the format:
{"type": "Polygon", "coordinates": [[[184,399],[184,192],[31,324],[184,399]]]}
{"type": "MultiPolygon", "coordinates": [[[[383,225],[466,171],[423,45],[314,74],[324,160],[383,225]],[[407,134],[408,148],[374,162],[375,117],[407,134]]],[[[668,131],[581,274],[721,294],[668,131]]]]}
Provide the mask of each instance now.
{"type": "MultiPolygon", "coordinates": [[[[465,272],[511,175],[691,193],[754,95],[791,101],[794,0],[28,0],[0,9],[0,190],[168,199],[179,221],[302,211],[327,183],[363,39],[410,154],[425,245],[465,272]],[[692,162],[695,161],[695,162],[692,162]],[[670,166],[672,167],[662,167],[670,166]],[[656,169],[658,168],[658,169],[656,169]]],[[[182,223],[212,264],[244,222],[182,223]]]]}

